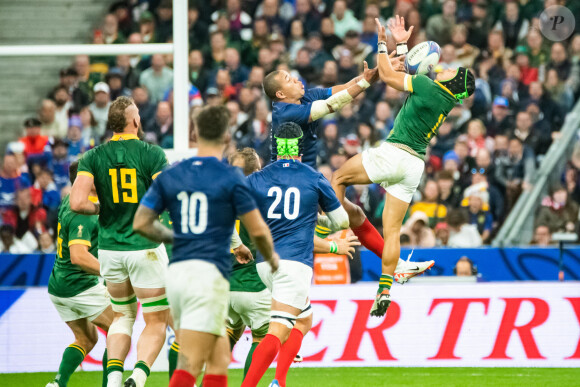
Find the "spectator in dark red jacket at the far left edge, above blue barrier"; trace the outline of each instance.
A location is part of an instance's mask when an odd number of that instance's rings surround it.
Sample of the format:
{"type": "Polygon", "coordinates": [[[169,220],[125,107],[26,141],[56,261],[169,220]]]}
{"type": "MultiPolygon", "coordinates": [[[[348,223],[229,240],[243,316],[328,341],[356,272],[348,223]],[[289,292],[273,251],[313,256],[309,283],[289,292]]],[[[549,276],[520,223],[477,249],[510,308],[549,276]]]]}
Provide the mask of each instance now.
{"type": "Polygon", "coordinates": [[[16,205],[4,212],[2,220],[4,224],[14,227],[16,239],[24,242],[29,252],[36,250],[38,242],[35,235],[46,230],[46,211],[32,205],[30,188],[16,192],[16,205]]]}

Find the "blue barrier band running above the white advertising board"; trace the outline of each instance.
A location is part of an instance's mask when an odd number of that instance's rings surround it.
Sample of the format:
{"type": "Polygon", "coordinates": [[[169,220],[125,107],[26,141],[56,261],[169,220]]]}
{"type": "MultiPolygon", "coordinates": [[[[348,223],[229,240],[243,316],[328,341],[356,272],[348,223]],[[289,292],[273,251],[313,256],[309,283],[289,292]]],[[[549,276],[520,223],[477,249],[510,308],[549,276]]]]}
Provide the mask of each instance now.
{"type": "MultiPolygon", "coordinates": [[[[402,249],[401,257],[406,259],[411,251],[402,249]]],[[[462,256],[473,260],[480,273],[480,280],[483,281],[558,279],[560,250],[557,248],[415,249],[412,260],[434,259],[435,266],[426,273],[428,276],[453,275],[455,263],[462,256]]],[[[54,259],[52,254],[2,254],[0,286],[47,286],[54,259]]],[[[378,281],[381,275],[380,260],[370,251],[362,250],[361,262],[362,281],[378,281]]],[[[563,269],[566,280],[580,280],[580,246],[564,250],[563,269]]],[[[346,272],[346,269],[342,272],[346,272]]]]}

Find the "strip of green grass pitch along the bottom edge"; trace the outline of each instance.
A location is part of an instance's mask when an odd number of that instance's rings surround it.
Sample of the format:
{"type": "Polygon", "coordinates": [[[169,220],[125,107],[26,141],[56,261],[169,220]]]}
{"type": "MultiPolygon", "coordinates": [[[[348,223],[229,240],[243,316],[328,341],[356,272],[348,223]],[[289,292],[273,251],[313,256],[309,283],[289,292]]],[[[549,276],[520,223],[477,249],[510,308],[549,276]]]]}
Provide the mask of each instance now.
{"type": "MultiPolygon", "coordinates": [[[[130,373],[126,372],[128,376],[130,373]]],[[[44,387],[53,373],[0,374],[0,386],[44,387]]],[[[241,384],[241,370],[231,370],[229,385],[241,384]]],[[[274,377],[269,370],[260,387],[274,377]]],[[[375,386],[579,386],[580,369],[575,368],[292,368],[288,387],[375,387],[375,386]]],[[[100,372],[77,372],[69,387],[99,387],[100,372]]],[[[147,387],[166,387],[166,373],[151,374],[147,387]]]]}

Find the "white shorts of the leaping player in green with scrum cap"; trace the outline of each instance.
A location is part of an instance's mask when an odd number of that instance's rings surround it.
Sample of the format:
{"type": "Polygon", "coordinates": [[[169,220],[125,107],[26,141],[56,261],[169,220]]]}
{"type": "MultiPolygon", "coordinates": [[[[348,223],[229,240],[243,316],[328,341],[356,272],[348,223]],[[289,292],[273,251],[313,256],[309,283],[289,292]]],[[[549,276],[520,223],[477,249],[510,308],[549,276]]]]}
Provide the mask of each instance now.
{"type": "Polygon", "coordinates": [[[365,150],[362,164],[373,183],[406,203],[411,203],[425,169],[423,160],[388,142],[365,150]]]}

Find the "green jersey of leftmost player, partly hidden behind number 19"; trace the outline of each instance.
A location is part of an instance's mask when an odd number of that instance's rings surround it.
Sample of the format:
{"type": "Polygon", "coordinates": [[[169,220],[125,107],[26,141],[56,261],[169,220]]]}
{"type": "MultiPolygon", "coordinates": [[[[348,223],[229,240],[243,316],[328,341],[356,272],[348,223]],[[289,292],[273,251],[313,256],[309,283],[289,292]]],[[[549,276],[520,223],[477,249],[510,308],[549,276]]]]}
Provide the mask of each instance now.
{"type": "Polygon", "coordinates": [[[96,275],[89,274],[70,260],[69,247],[75,244],[89,247],[97,257],[99,224],[97,215],[81,215],[70,209],[66,196],[58,209],[57,252],[48,280],[48,293],[57,297],[73,297],[99,283],[96,275]]]}

